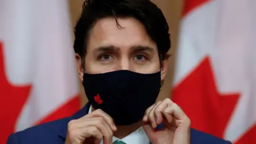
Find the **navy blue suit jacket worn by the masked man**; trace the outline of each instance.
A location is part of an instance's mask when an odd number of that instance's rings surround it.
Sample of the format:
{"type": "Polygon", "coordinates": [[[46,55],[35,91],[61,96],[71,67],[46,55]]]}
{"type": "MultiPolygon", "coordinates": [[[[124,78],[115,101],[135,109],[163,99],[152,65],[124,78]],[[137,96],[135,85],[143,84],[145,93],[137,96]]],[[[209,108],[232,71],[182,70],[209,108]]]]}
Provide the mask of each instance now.
{"type": "MultiPolygon", "coordinates": [[[[6,144],[64,144],[67,135],[68,122],[86,115],[90,104],[87,103],[81,110],[70,117],[57,121],[30,127],[27,130],[10,135],[6,144]]],[[[231,142],[213,137],[195,129],[191,129],[190,144],[230,144],[231,142]]]]}

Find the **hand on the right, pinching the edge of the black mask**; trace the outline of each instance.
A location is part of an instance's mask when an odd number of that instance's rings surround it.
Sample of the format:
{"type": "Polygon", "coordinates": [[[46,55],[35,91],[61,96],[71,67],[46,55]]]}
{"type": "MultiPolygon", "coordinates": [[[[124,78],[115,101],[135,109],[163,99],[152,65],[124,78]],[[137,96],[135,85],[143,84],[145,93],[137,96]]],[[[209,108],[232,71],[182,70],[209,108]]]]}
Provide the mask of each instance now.
{"type": "Polygon", "coordinates": [[[182,109],[170,99],[159,101],[150,106],[143,117],[143,129],[153,144],[189,144],[190,119],[182,109]],[[155,130],[164,123],[161,130],[155,130]]]}

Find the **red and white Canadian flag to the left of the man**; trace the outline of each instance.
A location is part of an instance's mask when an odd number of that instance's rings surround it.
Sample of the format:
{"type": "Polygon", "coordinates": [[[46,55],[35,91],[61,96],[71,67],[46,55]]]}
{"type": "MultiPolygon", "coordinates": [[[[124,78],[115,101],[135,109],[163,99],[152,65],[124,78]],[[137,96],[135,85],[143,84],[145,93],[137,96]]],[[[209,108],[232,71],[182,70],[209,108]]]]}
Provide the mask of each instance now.
{"type": "Polygon", "coordinates": [[[0,2],[0,143],[79,109],[68,2],[0,2]]]}

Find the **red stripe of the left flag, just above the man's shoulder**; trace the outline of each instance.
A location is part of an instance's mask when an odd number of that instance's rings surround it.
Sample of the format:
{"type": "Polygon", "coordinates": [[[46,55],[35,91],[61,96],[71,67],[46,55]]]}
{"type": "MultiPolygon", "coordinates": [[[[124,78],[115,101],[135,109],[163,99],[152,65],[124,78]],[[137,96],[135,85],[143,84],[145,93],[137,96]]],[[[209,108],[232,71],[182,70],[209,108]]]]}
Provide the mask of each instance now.
{"type": "Polygon", "coordinates": [[[80,106],[80,97],[77,94],[73,99],[69,100],[67,103],[59,107],[57,110],[53,111],[50,115],[46,116],[41,121],[36,123],[36,125],[54,121],[56,119],[60,119],[63,117],[71,116],[80,109],[79,106],[80,106]]]}

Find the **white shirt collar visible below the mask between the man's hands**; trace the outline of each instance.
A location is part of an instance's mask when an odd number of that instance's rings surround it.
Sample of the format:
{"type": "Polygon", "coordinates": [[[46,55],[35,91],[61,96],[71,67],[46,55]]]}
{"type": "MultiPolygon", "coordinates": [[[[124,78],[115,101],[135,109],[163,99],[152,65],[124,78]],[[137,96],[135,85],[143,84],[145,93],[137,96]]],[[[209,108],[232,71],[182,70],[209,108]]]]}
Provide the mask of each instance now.
{"type": "MultiPolygon", "coordinates": [[[[91,112],[92,112],[92,106],[90,106],[88,114],[90,114],[91,112]]],[[[148,144],[148,143],[150,143],[148,136],[142,127],[135,130],[134,132],[130,133],[123,139],[118,139],[116,137],[113,137],[112,141],[114,142],[116,140],[121,140],[121,141],[125,142],[126,144],[144,144],[144,143],[148,144]]],[[[100,144],[103,144],[103,141],[101,141],[100,144]]]]}

